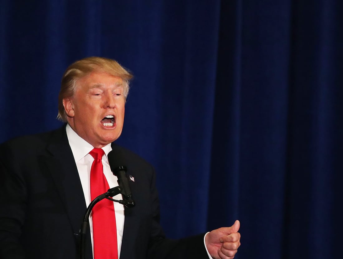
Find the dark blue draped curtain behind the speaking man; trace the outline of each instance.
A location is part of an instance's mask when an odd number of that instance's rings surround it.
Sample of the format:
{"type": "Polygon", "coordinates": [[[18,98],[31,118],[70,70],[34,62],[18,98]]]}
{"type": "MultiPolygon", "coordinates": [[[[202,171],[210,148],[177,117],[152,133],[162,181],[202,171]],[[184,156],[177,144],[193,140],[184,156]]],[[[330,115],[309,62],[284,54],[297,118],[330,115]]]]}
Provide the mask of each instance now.
{"type": "Polygon", "coordinates": [[[343,2],[1,0],[0,142],[61,126],[87,56],[134,74],[117,142],[171,238],[241,221],[236,258],[341,257],[343,2]]]}

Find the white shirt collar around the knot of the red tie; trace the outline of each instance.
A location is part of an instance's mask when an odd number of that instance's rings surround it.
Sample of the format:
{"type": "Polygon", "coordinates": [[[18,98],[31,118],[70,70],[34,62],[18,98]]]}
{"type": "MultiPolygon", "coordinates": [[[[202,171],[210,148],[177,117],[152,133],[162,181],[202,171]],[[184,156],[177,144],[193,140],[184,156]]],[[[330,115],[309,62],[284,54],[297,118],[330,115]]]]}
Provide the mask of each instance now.
{"type": "MultiPolygon", "coordinates": [[[[84,158],[94,147],[89,144],[86,140],[81,138],[69,124],[66,126],[66,132],[68,137],[69,146],[73,152],[75,162],[78,162],[80,159],[84,158]]],[[[109,151],[112,150],[111,143],[107,144],[102,148],[105,152],[106,158],[109,151]]]]}

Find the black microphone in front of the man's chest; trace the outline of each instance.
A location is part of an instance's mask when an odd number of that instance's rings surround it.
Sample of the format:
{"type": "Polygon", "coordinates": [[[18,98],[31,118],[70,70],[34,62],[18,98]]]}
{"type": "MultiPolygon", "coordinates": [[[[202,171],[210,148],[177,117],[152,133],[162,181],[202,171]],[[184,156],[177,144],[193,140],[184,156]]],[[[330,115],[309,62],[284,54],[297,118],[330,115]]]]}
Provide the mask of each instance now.
{"type": "Polygon", "coordinates": [[[108,155],[108,163],[111,168],[113,175],[118,177],[118,184],[121,189],[121,194],[123,195],[124,200],[126,201],[125,206],[132,208],[135,204],[132,199],[131,188],[129,185],[128,177],[126,176],[127,168],[123,165],[122,161],[125,161],[124,156],[118,150],[111,150],[108,155]]]}

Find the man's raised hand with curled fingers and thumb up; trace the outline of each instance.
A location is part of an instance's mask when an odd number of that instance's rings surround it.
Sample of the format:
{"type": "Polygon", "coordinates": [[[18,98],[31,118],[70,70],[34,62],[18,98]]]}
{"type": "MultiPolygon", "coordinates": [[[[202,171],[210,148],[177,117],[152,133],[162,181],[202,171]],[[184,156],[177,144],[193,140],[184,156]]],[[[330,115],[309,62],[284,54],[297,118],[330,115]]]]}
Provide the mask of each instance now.
{"type": "Polygon", "coordinates": [[[232,259],[240,246],[240,223],[238,220],[230,227],[221,227],[212,230],[205,237],[206,248],[212,258],[232,259]]]}

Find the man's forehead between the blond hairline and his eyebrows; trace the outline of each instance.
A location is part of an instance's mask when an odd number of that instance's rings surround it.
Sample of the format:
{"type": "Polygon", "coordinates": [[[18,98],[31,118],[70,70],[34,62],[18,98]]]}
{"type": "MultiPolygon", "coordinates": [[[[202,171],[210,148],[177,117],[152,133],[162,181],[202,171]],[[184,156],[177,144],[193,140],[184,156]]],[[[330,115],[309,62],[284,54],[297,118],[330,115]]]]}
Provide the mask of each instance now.
{"type": "Polygon", "coordinates": [[[76,88],[91,89],[102,87],[124,87],[124,82],[119,76],[114,76],[106,72],[92,72],[81,77],[76,82],[76,88]]]}

